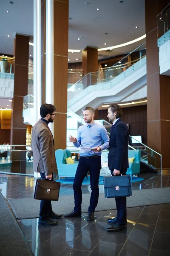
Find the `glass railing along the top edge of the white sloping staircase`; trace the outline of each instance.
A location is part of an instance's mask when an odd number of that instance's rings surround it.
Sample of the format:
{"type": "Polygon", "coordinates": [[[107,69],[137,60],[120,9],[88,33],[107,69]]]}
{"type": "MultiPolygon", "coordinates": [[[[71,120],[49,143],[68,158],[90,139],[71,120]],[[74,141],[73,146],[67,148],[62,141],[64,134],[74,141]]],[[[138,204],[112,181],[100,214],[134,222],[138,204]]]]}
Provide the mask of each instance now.
{"type": "Polygon", "coordinates": [[[114,64],[112,67],[107,70],[100,70],[97,72],[88,73],[82,79],[77,81],[68,89],[68,107],[73,104],[76,100],[79,99],[79,95],[83,90],[87,92],[91,90],[91,86],[95,86],[94,89],[102,86],[102,89],[105,89],[105,85],[109,81],[112,81],[114,78],[118,77],[120,74],[126,73],[126,70],[131,68],[130,71],[133,72],[141,67],[143,64],[146,64],[146,43],[142,44],[140,47],[136,48],[133,52],[130,52],[119,62],[114,64]],[[137,64],[138,63],[138,64],[137,64]],[[135,65],[136,64],[136,65],[135,65]]]}

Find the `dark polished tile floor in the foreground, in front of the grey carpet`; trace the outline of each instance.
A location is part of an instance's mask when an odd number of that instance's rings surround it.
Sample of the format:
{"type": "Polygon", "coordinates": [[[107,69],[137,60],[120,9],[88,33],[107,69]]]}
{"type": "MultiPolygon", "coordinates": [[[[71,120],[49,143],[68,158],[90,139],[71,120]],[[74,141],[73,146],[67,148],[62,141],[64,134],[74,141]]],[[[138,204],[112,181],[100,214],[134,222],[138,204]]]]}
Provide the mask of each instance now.
{"type": "Polygon", "coordinates": [[[18,221],[35,256],[169,256],[170,204],[127,209],[127,228],[107,233],[116,210],[95,212],[95,221],[62,218],[54,227],[37,219],[18,221]]]}

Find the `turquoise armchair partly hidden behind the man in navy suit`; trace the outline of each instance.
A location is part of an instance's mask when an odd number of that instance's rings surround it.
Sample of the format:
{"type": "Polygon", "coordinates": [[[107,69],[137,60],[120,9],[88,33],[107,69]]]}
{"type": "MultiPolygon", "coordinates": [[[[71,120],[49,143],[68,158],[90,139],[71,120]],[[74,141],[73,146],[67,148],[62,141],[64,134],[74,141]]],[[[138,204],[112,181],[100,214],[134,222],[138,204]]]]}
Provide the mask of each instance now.
{"type": "Polygon", "coordinates": [[[132,180],[132,175],[139,175],[140,172],[140,161],[141,161],[141,151],[140,150],[128,150],[128,157],[135,157],[133,163],[129,163],[129,168],[126,174],[130,175],[132,180]]]}

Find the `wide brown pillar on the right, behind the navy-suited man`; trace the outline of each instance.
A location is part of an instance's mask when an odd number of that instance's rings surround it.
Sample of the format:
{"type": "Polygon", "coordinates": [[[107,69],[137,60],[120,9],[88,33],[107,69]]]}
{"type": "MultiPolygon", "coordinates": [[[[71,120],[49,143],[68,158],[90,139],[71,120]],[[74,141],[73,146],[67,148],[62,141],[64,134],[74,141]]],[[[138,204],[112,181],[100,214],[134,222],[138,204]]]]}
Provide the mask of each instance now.
{"type": "MultiPolygon", "coordinates": [[[[169,0],[145,0],[147,56],[147,144],[162,154],[162,168],[170,169],[170,76],[159,73],[156,16],[169,0]]],[[[149,161],[160,168],[160,157],[149,161]]]]}

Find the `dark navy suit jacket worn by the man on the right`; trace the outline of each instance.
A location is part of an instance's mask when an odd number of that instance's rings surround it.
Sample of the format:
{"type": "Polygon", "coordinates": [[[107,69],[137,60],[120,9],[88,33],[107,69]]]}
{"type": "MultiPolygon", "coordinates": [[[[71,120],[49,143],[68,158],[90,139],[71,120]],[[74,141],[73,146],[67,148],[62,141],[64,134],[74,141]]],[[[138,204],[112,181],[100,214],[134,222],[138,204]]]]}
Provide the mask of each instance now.
{"type": "MultiPolygon", "coordinates": [[[[119,119],[112,126],[110,136],[110,150],[108,154],[108,167],[110,170],[127,169],[128,162],[129,129],[127,125],[119,119]]],[[[125,175],[125,173],[122,173],[125,175]]]]}

